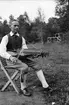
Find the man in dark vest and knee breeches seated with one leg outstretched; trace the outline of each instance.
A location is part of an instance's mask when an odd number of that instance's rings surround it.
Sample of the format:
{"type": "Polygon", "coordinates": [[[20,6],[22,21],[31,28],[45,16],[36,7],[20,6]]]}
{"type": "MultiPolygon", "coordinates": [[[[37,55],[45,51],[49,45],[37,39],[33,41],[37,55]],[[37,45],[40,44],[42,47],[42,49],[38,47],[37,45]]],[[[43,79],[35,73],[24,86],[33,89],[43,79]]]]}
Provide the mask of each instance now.
{"type": "MultiPolygon", "coordinates": [[[[19,51],[27,49],[27,45],[25,43],[25,39],[18,33],[19,22],[17,20],[14,20],[11,23],[10,28],[11,32],[2,38],[0,44],[0,56],[7,59],[6,60],[7,65],[12,65],[13,67],[16,67],[21,71],[20,75],[21,91],[23,95],[30,96],[31,93],[28,91],[26,87],[26,74],[28,72],[28,65],[23,62],[23,59],[21,61],[16,57],[16,54],[18,54],[19,51]]],[[[33,68],[36,71],[36,75],[41,81],[43,88],[49,90],[49,85],[45,80],[42,69],[39,67],[39,65],[37,65],[36,62],[33,62],[33,64],[34,64],[33,68]]]]}

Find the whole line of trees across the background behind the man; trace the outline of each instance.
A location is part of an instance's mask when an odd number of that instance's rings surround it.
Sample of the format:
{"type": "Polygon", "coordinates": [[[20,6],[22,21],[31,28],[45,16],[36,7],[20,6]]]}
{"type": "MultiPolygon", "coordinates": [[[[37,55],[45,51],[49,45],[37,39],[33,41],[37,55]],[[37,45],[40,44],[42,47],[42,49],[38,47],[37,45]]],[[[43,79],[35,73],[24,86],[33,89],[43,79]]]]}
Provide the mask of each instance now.
{"type": "MultiPolygon", "coordinates": [[[[56,0],[55,15],[58,17],[50,17],[48,23],[45,22],[45,16],[41,8],[38,9],[38,16],[34,21],[30,20],[27,12],[17,17],[20,27],[19,33],[25,37],[27,42],[45,43],[47,37],[55,36],[56,33],[60,34],[65,42],[69,40],[69,1],[56,0]]],[[[1,17],[0,17],[1,18],[1,17]]],[[[0,39],[10,32],[9,25],[13,21],[14,16],[9,16],[9,23],[7,20],[0,21],[0,39]]]]}

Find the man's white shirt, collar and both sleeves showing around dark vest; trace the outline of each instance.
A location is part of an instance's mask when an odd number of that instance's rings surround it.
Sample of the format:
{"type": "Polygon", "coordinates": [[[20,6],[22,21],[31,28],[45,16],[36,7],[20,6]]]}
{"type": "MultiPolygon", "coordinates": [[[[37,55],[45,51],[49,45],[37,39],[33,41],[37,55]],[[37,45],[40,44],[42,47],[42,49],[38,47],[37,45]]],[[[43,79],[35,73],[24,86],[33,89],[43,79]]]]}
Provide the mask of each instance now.
{"type": "MultiPolygon", "coordinates": [[[[10,32],[10,35],[12,36],[13,33],[10,32]]],[[[18,33],[16,35],[19,36],[18,33]]],[[[9,59],[11,54],[9,54],[7,52],[7,48],[6,48],[7,43],[8,43],[8,35],[5,35],[2,38],[2,41],[0,43],[0,56],[3,57],[3,58],[9,59]]],[[[26,45],[26,42],[25,42],[25,39],[23,37],[22,37],[22,49],[28,49],[28,47],[26,45]]]]}

